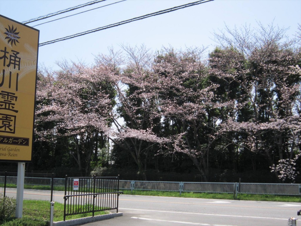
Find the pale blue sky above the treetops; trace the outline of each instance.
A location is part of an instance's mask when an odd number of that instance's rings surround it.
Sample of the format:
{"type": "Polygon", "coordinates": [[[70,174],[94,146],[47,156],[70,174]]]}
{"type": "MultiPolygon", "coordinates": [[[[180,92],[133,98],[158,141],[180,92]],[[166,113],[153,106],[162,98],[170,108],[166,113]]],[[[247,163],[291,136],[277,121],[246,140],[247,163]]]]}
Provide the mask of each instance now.
{"type": "MultiPolygon", "coordinates": [[[[0,14],[22,22],[86,2],[88,0],[1,0],[0,14]]],[[[118,0],[107,0],[28,25],[113,2],[118,0]]],[[[127,0],[35,28],[40,30],[41,43],[190,2],[194,0],[127,0]]],[[[55,61],[62,59],[80,59],[88,64],[94,61],[93,55],[106,54],[108,46],[118,50],[122,43],[131,46],[145,44],[153,50],[169,45],[175,48],[209,46],[213,49],[216,43],[212,41],[212,33],[223,29],[225,24],[231,28],[244,24],[257,27],[256,21],[268,25],[273,20],[279,27],[290,27],[287,35],[292,37],[301,23],[301,0],[215,0],[42,46],[38,60],[53,69],[57,69],[55,61]]]]}

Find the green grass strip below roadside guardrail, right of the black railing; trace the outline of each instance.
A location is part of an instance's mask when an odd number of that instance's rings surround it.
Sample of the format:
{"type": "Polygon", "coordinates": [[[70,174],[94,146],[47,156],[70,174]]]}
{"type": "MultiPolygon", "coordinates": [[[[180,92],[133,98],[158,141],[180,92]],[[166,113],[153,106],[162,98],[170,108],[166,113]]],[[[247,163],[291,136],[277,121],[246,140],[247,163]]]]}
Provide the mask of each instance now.
{"type": "MultiPolygon", "coordinates": [[[[193,193],[193,192],[168,192],[168,191],[142,191],[142,190],[123,190],[125,195],[145,195],[145,196],[166,196],[183,197],[198,199],[234,199],[233,194],[229,193],[193,193]]],[[[238,194],[237,200],[250,201],[270,201],[270,202],[301,202],[301,196],[281,196],[281,195],[257,195],[257,194],[238,194]]]]}

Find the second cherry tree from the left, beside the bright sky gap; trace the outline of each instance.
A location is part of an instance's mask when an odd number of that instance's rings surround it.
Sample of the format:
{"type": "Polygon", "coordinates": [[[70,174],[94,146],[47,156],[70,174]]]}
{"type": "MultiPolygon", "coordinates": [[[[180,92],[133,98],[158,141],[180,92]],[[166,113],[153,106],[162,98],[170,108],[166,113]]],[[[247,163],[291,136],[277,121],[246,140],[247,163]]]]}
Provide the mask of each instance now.
{"type": "Polygon", "coordinates": [[[149,158],[168,142],[157,133],[161,113],[157,102],[157,78],[152,71],[154,55],[145,46],[122,47],[123,61],[111,51],[109,56],[99,55],[97,64],[107,65],[116,75],[111,81],[117,93],[117,108],[111,117],[117,131],[110,139],[130,153],[138,172],[144,175],[149,158]]]}

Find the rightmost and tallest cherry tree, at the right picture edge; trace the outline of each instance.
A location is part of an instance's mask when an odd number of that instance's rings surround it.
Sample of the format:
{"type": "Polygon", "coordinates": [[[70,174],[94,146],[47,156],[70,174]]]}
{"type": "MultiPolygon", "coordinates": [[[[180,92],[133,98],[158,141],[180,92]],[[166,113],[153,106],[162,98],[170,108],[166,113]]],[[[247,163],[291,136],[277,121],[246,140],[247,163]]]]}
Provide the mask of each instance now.
{"type": "MultiPolygon", "coordinates": [[[[264,152],[270,166],[274,159],[294,159],[300,152],[301,128],[298,42],[282,41],[285,29],[273,25],[257,31],[226,27],[226,32],[216,34],[221,49],[211,54],[212,74],[238,84],[240,96],[233,98],[234,114],[222,122],[223,130],[239,132],[237,145],[264,152]],[[249,117],[241,118],[246,111],[249,117]]],[[[280,168],[273,169],[280,173],[280,168]]]]}

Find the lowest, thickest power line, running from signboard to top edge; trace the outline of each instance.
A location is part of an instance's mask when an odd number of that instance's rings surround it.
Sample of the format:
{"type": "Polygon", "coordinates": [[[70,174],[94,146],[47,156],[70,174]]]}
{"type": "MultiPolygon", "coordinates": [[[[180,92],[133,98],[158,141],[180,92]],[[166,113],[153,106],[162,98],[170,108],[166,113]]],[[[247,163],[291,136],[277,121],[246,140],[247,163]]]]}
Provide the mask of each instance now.
{"type": "Polygon", "coordinates": [[[45,45],[48,45],[48,44],[52,44],[52,43],[55,43],[55,42],[64,41],[64,40],[67,40],[67,39],[73,39],[75,37],[79,37],[79,36],[86,35],[86,34],[89,34],[89,33],[93,33],[93,32],[96,32],[96,31],[105,30],[105,29],[112,28],[112,27],[117,27],[117,26],[122,25],[122,24],[127,24],[127,23],[131,23],[133,21],[136,21],[136,20],[145,19],[147,17],[153,17],[153,16],[157,16],[157,15],[160,15],[160,14],[176,11],[178,9],[183,9],[183,8],[187,8],[187,7],[190,7],[190,6],[199,5],[199,4],[206,3],[206,2],[211,2],[211,1],[214,1],[214,0],[200,0],[200,1],[197,1],[197,2],[191,2],[191,3],[185,4],[185,5],[180,5],[180,6],[176,6],[176,7],[173,7],[173,8],[157,11],[157,12],[154,12],[154,13],[146,14],[144,16],[135,17],[135,18],[132,18],[132,19],[129,19],[129,20],[124,20],[124,21],[121,21],[121,22],[118,22],[118,23],[115,23],[115,24],[110,24],[110,25],[107,25],[107,26],[104,26],[104,27],[98,27],[98,28],[95,28],[93,30],[88,30],[88,31],[85,31],[85,32],[77,33],[77,34],[66,36],[66,37],[59,38],[59,39],[54,39],[54,40],[47,41],[47,42],[42,42],[42,43],[39,43],[39,47],[40,46],[45,46],[45,45]]]}

